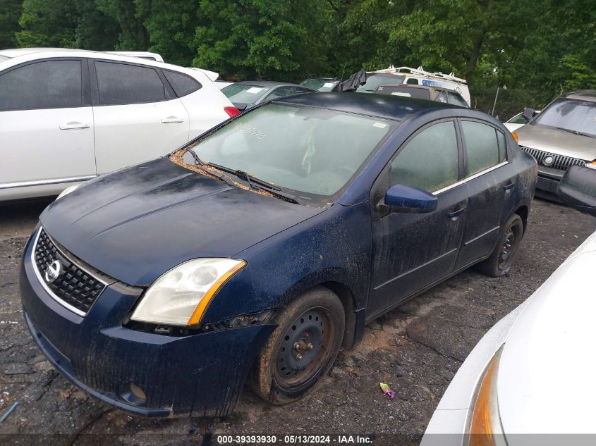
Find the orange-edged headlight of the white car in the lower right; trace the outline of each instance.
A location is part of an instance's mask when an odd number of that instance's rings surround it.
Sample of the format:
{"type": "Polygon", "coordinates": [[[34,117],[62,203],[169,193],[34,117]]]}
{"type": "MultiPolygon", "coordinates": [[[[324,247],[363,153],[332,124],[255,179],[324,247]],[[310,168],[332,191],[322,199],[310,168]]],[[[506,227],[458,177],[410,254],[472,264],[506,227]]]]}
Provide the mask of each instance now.
{"type": "Polygon", "coordinates": [[[497,401],[497,372],[503,347],[494,354],[482,376],[470,419],[469,446],[506,446],[499,404],[497,401]]]}

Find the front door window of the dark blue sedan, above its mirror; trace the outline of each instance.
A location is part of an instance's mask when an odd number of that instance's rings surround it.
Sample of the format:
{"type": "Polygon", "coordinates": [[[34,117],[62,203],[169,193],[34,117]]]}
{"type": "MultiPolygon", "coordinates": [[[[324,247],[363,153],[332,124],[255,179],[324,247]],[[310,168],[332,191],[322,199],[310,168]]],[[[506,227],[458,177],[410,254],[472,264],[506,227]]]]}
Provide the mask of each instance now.
{"type": "Polygon", "coordinates": [[[390,186],[436,192],[458,181],[458,159],[455,123],[434,124],[413,137],[391,163],[390,186]]]}

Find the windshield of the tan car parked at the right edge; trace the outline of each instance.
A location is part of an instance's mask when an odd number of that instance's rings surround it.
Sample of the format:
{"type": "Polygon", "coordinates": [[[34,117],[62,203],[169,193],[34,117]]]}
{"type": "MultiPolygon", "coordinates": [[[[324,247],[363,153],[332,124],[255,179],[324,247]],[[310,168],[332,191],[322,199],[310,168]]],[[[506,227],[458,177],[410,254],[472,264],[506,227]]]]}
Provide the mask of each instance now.
{"type": "Polygon", "coordinates": [[[536,124],[596,137],[596,102],[557,99],[534,121],[536,124]]]}

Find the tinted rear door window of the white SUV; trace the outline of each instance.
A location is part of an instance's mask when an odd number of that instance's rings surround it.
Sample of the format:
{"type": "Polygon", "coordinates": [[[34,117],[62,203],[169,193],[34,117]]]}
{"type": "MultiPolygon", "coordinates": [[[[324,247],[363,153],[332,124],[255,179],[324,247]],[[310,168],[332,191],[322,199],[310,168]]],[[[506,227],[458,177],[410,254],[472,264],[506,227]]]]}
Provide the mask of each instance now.
{"type": "Polygon", "coordinates": [[[99,104],[142,104],[169,99],[154,68],[95,61],[95,72],[99,104]]]}

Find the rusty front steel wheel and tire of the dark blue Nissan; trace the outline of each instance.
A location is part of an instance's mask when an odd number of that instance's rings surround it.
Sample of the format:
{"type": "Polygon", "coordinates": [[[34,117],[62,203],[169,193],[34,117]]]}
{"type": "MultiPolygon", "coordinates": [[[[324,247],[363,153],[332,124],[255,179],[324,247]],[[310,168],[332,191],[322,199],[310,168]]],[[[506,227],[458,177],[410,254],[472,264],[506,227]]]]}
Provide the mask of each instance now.
{"type": "Polygon", "coordinates": [[[317,286],[276,314],[278,326],[253,366],[253,391],[273,404],[288,404],[310,392],[332,367],[346,326],[343,305],[317,286]]]}

